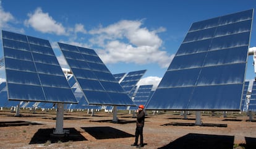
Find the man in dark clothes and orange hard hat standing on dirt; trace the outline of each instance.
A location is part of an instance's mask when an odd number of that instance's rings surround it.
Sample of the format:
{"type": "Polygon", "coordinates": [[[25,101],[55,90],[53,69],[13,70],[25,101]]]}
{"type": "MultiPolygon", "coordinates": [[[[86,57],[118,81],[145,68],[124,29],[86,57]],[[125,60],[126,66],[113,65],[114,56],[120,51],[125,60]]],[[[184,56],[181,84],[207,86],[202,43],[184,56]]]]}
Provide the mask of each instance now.
{"type": "Polygon", "coordinates": [[[137,109],[137,121],[136,121],[136,130],[135,130],[135,142],[132,146],[143,147],[143,126],[145,121],[145,113],[143,111],[144,106],[139,105],[139,109],[137,109]],[[138,146],[138,140],[140,135],[140,145],[138,146]]]}

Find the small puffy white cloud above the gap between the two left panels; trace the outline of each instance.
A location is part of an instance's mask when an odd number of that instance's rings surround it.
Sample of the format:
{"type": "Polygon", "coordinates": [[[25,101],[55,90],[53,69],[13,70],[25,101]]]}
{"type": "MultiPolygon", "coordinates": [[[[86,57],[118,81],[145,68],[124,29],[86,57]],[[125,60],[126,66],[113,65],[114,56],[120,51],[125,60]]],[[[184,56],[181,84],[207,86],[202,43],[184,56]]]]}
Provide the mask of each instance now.
{"type": "Polygon", "coordinates": [[[35,30],[43,33],[56,33],[57,35],[67,35],[65,28],[61,23],[56,22],[48,13],[44,13],[38,7],[33,14],[28,14],[29,19],[24,24],[33,27],[35,30]]]}

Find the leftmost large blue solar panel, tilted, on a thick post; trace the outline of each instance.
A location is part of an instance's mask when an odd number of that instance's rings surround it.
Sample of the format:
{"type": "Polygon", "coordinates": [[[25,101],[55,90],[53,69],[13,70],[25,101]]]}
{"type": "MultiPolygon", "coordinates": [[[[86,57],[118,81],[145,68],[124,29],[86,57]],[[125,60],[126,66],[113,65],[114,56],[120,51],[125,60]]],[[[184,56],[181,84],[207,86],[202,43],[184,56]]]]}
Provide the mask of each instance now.
{"type": "Polygon", "coordinates": [[[77,103],[48,40],[2,30],[9,100],[77,103]]]}

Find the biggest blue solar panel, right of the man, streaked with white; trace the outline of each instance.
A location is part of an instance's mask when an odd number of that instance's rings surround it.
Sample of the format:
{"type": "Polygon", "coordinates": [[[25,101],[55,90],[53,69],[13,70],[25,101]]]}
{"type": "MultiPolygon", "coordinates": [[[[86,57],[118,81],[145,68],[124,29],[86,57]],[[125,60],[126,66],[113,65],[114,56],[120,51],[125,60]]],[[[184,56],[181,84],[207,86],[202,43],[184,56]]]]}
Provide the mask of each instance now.
{"type": "Polygon", "coordinates": [[[239,110],[253,11],[192,23],[146,108],[239,110]]]}

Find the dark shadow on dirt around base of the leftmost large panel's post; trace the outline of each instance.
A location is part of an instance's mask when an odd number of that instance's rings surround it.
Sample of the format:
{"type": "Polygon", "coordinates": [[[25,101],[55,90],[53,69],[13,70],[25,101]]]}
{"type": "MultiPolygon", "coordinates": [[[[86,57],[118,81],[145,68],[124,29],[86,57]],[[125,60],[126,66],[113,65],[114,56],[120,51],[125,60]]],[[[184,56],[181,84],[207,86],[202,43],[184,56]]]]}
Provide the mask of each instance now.
{"type": "Polygon", "coordinates": [[[29,144],[41,144],[50,141],[51,143],[58,142],[75,142],[75,141],[84,141],[87,140],[83,135],[80,134],[74,128],[65,128],[64,130],[69,130],[69,134],[66,135],[53,135],[54,129],[38,129],[35,135],[30,140],[29,144]]]}

